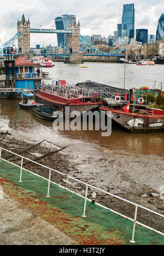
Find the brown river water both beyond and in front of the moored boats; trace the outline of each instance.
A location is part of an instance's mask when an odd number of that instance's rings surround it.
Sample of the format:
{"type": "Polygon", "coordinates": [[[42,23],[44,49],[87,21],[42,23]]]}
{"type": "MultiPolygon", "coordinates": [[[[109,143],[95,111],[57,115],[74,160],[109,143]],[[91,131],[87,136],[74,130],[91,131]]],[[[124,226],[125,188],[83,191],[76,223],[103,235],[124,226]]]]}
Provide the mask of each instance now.
{"type": "MultiPolygon", "coordinates": [[[[117,63],[85,63],[87,68],[80,68],[81,64],[55,63],[53,68],[43,68],[49,71],[53,79],[66,80],[69,84],[76,84],[86,80],[102,82],[103,84],[122,87],[124,82],[124,66],[117,63]]],[[[164,78],[164,65],[137,66],[128,64],[126,67],[126,88],[159,86],[164,78]]],[[[163,82],[164,85],[164,82],[163,82]]],[[[50,138],[54,143],[62,141],[68,143],[90,144],[93,147],[107,149],[112,152],[149,155],[150,157],[164,157],[164,132],[130,133],[112,125],[112,135],[102,137],[101,131],[58,131],[52,129],[52,123],[33,115],[32,110],[19,107],[20,100],[0,100],[0,129],[11,129],[21,136],[40,140],[50,138]]]]}

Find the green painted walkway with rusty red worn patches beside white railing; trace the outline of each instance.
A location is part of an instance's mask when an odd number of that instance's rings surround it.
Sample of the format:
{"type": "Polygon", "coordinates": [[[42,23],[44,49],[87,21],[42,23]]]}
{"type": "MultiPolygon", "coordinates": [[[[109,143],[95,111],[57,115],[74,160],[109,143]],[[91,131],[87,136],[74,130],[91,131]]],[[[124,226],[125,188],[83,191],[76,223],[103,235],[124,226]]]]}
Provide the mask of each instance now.
{"type": "MultiPolygon", "coordinates": [[[[133,222],[91,202],[86,204],[86,218],[82,218],[84,199],[48,181],[1,160],[0,185],[5,193],[33,213],[54,225],[79,244],[132,244],[133,222]]],[[[136,224],[134,241],[141,244],[164,244],[164,237],[136,224]]]]}

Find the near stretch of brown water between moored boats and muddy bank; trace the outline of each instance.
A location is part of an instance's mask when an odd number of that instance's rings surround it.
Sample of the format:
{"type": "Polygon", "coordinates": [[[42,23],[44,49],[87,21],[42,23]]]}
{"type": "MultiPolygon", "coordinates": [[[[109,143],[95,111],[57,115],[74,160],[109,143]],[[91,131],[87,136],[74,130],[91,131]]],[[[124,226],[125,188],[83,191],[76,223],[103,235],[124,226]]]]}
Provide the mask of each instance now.
{"type": "Polygon", "coordinates": [[[51,141],[60,138],[73,139],[93,144],[93,146],[109,149],[110,151],[159,155],[164,157],[163,143],[164,132],[154,133],[130,133],[117,125],[112,125],[112,135],[102,137],[101,131],[57,131],[52,129],[52,122],[45,121],[33,115],[32,110],[19,107],[20,100],[1,100],[0,127],[2,129],[14,129],[28,137],[51,138],[51,141]]]}

